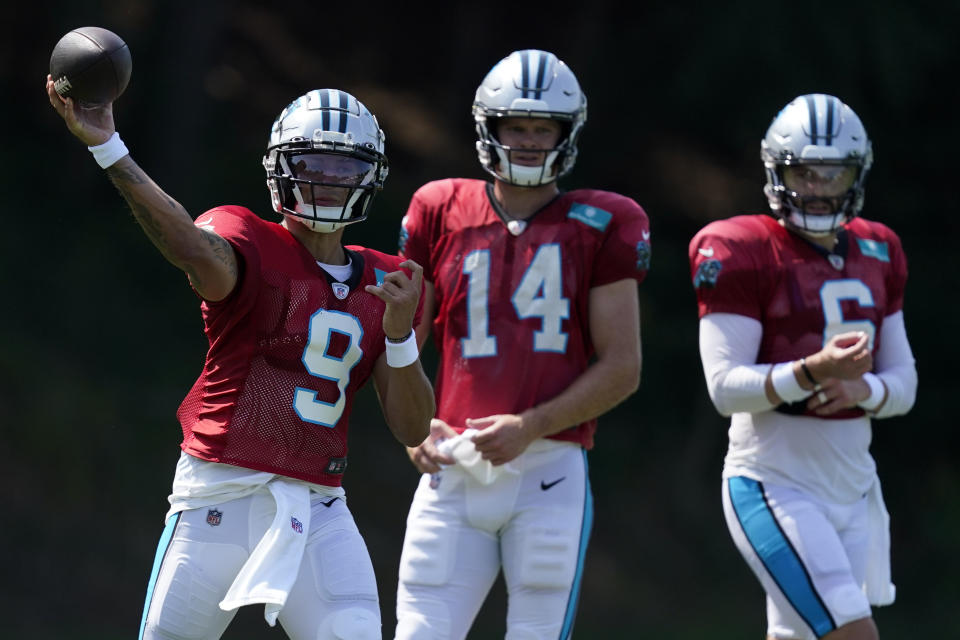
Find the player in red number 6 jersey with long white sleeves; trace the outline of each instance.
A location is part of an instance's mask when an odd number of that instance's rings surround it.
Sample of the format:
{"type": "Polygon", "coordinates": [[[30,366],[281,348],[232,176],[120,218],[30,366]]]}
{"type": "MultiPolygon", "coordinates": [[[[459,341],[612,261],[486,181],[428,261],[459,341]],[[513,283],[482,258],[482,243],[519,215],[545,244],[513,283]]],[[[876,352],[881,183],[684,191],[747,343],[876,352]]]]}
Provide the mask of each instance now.
{"type": "Polygon", "coordinates": [[[700,354],[732,416],[730,533],[767,593],[767,637],[875,640],[894,599],[871,419],[906,413],[917,374],[903,320],[907,263],[857,217],[873,161],[860,118],[804,95],[761,143],[774,217],[713,222],[690,242],[700,354]]]}

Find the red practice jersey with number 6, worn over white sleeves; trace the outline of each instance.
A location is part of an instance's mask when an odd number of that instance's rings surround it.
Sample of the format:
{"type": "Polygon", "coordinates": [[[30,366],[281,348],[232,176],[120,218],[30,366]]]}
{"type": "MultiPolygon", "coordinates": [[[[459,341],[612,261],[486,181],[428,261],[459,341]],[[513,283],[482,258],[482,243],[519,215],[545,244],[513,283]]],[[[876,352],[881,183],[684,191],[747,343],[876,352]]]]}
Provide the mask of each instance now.
{"type": "MultiPolygon", "coordinates": [[[[833,253],[768,215],[713,222],[690,241],[690,269],[700,317],[736,313],[763,325],[758,364],[798,360],[847,331],[866,332],[876,353],[907,280],[900,239],[863,218],[844,226],[833,253]]],[[[853,408],[819,417],[861,415],[853,408]]]]}

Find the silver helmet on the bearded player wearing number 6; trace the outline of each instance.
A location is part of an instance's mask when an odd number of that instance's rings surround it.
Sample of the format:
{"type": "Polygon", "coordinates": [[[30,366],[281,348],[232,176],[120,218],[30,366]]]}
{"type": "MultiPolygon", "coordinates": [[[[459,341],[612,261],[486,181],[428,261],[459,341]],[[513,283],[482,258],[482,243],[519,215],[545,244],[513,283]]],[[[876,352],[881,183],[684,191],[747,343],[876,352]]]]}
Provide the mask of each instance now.
{"type": "Polygon", "coordinates": [[[767,129],[760,157],[770,209],[791,227],[826,236],[860,213],[873,150],[860,118],[838,98],[795,98],[767,129]]]}

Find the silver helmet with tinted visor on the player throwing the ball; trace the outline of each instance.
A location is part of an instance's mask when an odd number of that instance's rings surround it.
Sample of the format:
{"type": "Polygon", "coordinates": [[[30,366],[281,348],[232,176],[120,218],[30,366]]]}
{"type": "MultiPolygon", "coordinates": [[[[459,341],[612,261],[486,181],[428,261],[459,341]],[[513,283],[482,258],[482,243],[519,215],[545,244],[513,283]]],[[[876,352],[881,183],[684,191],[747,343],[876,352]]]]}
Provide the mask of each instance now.
{"type": "Polygon", "coordinates": [[[349,93],[300,96],[273,123],[263,156],[274,211],[322,233],[364,220],[387,178],[384,140],[376,117],[349,93]]]}

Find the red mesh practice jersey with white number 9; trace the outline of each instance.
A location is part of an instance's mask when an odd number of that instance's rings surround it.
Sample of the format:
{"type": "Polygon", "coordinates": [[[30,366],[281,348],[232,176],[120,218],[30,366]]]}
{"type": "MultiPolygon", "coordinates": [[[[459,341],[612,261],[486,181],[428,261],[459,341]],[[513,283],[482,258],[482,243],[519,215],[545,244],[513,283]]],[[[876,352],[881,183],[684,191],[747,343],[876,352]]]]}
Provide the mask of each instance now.
{"type": "Polygon", "coordinates": [[[225,300],[201,304],[210,349],[177,414],[181,448],[340,486],[353,399],[384,351],[385,304],[364,287],[402,260],[346,247],[353,275],[338,283],[289,231],[248,209],[211,209],[196,224],[233,246],[240,277],[225,300]]]}

